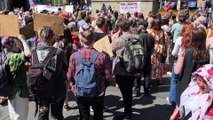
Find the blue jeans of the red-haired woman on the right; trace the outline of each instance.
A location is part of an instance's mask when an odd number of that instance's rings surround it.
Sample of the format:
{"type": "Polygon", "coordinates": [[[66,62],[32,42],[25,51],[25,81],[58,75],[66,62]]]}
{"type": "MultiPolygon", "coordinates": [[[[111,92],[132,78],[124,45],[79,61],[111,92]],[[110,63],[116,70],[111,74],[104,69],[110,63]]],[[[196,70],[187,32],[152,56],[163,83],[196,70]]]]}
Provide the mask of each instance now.
{"type": "Polygon", "coordinates": [[[174,60],[173,67],[172,67],[172,77],[171,77],[171,80],[170,80],[169,102],[172,103],[172,104],[175,104],[177,82],[178,82],[178,79],[179,79],[179,75],[176,75],[174,73],[174,66],[175,66],[176,62],[177,62],[177,60],[174,60]]]}

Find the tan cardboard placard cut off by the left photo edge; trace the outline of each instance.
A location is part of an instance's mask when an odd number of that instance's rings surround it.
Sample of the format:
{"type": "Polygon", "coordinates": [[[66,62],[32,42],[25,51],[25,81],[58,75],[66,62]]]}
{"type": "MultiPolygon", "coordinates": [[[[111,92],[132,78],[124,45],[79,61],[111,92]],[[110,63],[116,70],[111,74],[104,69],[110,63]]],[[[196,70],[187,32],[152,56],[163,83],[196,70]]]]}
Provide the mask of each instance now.
{"type": "Polygon", "coordinates": [[[18,16],[0,15],[0,36],[19,35],[18,16]]]}

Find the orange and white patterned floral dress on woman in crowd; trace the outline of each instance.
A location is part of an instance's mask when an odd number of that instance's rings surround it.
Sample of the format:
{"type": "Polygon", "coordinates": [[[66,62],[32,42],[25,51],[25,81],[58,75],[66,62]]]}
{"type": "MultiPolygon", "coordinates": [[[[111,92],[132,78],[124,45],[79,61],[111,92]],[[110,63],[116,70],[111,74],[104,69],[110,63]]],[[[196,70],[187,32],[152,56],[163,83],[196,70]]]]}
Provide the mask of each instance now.
{"type": "Polygon", "coordinates": [[[161,79],[163,74],[166,74],[166,65],[161,61],[163,53],[166,54],[166,48],[168,44],[168,36],[163,31],[150,30],[150,34],[154,37],[155,47],[151,56],[152,63],[152,78],[161,79]]]}

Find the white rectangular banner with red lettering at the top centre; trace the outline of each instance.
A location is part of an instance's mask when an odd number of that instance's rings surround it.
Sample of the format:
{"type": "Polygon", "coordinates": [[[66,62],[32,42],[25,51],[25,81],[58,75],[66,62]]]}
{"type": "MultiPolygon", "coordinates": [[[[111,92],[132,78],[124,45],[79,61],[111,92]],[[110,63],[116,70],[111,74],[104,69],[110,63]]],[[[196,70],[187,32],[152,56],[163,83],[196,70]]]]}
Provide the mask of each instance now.
{"type": "Polygon", "coordinates": [[[121,2],[120,13],[140,12],[140,2],[121,2]]]}

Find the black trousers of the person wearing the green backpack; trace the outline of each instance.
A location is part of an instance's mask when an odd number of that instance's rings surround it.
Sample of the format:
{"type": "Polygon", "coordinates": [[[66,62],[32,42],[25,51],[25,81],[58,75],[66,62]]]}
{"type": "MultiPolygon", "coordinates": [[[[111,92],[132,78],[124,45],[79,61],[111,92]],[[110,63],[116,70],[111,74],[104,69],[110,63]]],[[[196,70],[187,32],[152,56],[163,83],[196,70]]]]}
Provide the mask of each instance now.
{"type": "Polygon", "coordinates": [[[125,116],[132,116],[132,87],[134,79],[134,76],[115,75],[116,83],[118,84],[123,96],[125,116]]]}

